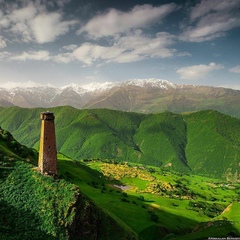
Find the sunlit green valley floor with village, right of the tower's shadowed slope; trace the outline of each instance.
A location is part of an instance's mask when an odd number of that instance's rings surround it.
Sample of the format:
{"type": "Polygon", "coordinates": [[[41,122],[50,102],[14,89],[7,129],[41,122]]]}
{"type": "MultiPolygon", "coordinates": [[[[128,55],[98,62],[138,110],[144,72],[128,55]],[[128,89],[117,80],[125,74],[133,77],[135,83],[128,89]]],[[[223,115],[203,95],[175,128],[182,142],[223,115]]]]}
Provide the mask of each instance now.
{"type": "Polygon", "coordinates": [[[239,183],[134,163],[79,163],[64,157],[59,160],[59,169],[60,177],[77,184],[140,239],[205,239],[240,234],[239,183]]]}

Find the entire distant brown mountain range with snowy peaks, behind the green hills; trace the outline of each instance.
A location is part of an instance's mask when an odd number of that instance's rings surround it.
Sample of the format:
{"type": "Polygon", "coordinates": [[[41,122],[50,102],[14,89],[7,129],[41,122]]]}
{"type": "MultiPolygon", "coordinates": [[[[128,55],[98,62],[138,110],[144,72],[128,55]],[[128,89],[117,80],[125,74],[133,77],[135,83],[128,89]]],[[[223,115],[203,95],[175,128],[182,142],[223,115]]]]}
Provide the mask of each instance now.
{"type": "Polygon", "coordinates": [[[73,106],[108,108],[139,113],[164,110],[176,113],[217,110],[240,117],[240,91],[195,85],[178,85],[161,79],[132,79],[121,83],[1,87],[0,106],[24,108],[73,106]]]}

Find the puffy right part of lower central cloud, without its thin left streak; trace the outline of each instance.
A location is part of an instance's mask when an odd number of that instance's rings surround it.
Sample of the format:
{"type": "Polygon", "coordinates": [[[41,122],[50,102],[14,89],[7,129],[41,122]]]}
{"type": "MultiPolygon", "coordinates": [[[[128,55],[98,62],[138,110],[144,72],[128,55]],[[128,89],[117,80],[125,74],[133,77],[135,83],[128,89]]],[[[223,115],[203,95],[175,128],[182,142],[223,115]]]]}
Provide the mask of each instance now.
{"type": "Polygon", "coordinates": [[[136,62],[147,58],[167,58],[174,55],[174,36],[166,32],[157,33],[156,37],[149,37],[136,31],[127,36],[115,39],[112,46],[100,46],[84,43],[72,52],[72,57],[87,65],[102,60],[103,63],[136,62]]]}

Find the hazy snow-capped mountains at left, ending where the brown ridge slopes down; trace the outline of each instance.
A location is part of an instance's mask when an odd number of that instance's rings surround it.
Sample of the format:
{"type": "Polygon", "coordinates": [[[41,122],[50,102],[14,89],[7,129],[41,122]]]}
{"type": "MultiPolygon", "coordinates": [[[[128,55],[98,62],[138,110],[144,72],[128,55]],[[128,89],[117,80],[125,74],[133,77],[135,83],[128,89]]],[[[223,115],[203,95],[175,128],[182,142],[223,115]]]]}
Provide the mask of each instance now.
{"type": "MultiPolygon", "coordinates": [[[[117,83],[91,83],[84,86],[70,84],[58,88],[51,85],[30,84],[30,86],[26,87],[1,87],[0,96],[2,101],[26,108],[65,105],[81,108],[98,94],[116,85],[117,83]]],[[[5,105],[0,106],[5,107],[5,105]]]]}

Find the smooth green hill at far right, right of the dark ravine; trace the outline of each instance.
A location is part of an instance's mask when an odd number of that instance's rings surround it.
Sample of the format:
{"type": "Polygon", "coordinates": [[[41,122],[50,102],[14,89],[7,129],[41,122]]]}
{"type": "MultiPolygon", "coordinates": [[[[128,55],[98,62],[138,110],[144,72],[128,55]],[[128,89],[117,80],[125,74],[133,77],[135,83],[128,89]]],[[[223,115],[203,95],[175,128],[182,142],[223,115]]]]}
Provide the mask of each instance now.
{"type": "Polygon", "coordinates": [[[240,120],[216,111],[184,115],[188,126],[186,157],[193,172],[239,179],[240,120]]]}

